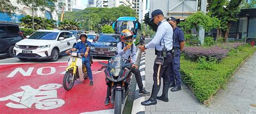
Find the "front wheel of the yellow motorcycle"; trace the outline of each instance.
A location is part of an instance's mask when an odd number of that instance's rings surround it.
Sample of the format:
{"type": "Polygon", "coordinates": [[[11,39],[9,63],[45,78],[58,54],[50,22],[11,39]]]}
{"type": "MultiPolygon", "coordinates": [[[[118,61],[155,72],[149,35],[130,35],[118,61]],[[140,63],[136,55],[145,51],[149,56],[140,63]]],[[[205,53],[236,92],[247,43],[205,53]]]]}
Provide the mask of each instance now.
{"type": "Polygon", "coordinates": [[[65,73],[64,78],[63,78],[63,87],[65,90],[70,90],[74,86],[75,83],[75,77],[72,80],[73,76],[73,70],[69,70],[68,72],[65,73]]]}

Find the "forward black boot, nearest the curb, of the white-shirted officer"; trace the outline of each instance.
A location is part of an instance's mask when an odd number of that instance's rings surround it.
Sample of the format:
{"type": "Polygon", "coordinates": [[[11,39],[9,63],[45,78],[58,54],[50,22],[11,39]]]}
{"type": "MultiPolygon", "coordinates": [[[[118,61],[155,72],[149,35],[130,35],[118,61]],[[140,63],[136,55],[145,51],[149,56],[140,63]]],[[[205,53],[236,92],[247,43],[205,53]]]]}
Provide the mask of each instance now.
{"type": "Polygon", "coordinates": [[[142,102],[142,105],[148,106],[157,104],[157,93],[159,90],[160,86],[153,84],[150,98],[147,99],[147,101],[142,102]]]}

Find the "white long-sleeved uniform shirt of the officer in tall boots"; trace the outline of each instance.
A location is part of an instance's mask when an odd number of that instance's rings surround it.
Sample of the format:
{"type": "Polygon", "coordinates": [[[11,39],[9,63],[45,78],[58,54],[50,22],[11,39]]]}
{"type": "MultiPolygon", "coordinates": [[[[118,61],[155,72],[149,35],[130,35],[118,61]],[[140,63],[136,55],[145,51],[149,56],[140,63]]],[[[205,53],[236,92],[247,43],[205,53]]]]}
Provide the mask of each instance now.
{"type": "Polygon", "coordinates": [[[156,32],[156,35],[154,35],[154,38],[148,44],[146,44],[145,47],[147,49],[156,47],[157,51],[161,51],[164,47],[164,42],[165,42],[165,47],[167,48],[167,51],[170,51],[173,45],[172,35],[173,35],[172,26],[164,19],[161,21],[160,25],[158,26],[157,32],[156,32]]]}

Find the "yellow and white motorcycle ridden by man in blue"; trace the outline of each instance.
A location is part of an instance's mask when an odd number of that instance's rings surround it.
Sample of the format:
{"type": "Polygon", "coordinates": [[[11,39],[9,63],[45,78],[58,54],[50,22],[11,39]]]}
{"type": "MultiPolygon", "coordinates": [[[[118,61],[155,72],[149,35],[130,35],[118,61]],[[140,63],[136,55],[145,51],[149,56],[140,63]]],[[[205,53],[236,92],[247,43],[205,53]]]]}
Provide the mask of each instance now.
{"type": "Polygon", "coordinates": [[[71,52],[68,68],[66,68],[63,79],[63,87],[67,91],[72,89],[76,80],[83,81],[88,78],[86,67],[82,63],[82,56],[83,53],[71,52]]]}

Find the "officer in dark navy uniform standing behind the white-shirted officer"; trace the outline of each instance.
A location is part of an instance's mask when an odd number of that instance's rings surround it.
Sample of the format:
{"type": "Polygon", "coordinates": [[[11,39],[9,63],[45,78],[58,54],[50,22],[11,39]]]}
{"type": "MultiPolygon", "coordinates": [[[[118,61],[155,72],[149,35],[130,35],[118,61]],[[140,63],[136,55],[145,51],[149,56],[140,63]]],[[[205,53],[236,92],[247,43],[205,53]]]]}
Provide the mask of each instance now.
{"type": "Polygon", "coordinates": [[[179,91],[181,90],[180,84],[181,84],[181,76],[180,76],[180,50],[184,48],[185,45],[185,38],[184,33],[176,26],[177,20],[174,17],[169,17],[167,21],[170,23],[170,25],[173,27],[173,33],[174,33],[174,59],[172,60],[171,67],[170,67],[170,85],[169,87],[173,87],[171,91],[179,91]]]}

